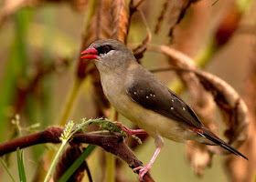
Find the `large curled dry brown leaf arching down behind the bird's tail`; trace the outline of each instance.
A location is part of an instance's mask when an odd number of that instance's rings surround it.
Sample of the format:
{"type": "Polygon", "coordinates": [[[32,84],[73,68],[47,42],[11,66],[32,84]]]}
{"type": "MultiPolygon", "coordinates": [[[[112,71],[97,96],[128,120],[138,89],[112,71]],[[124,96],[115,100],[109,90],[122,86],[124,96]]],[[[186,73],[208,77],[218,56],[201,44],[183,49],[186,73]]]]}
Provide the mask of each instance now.
{"type": "MultiPolygon", "coordinates": [[[[195,70],[194,73],[212,94],[221,110],[223,120],[229,128],[225,132],[229,138],[229,144],[234,148],[239,148],[248,136],[249,115],[246,104],[239,94],[218,76],[200,70],[195,70]]],[[[221,150],[220,153],[223,154],[226,151],[221,150]]]]}

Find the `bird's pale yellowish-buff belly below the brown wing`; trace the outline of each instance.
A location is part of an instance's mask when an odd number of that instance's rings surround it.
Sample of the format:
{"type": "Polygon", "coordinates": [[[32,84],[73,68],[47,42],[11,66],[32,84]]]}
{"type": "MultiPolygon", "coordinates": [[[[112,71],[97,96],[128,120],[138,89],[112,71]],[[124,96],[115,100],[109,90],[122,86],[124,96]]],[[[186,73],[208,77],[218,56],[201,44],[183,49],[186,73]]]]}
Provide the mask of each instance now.
{"type": "Polygon", "coordinates": [[[176,121],[139,106],[128,95],[107,97],[121,115],[144,129],[150,136],[163,136],[176,142],[186,142],[195,136],[194,132],[184,129],[176,121]]]}

